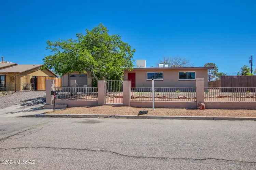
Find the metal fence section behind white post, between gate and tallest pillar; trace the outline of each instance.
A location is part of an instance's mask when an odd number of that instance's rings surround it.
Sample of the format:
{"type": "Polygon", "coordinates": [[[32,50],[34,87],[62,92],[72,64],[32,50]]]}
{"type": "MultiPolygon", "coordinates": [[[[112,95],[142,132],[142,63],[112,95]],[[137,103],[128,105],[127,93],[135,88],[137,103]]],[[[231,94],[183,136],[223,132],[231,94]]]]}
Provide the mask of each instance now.
{"type": "MultiPolygon", "coordinates": [[[[155,101],[196,101],[196,88],[155,87],[155,101]]],[[[131,88],[131,100],[152,101],[151,87],[131,88]]]]}

